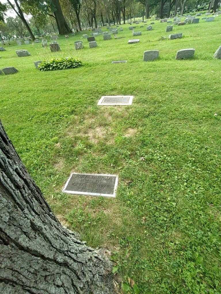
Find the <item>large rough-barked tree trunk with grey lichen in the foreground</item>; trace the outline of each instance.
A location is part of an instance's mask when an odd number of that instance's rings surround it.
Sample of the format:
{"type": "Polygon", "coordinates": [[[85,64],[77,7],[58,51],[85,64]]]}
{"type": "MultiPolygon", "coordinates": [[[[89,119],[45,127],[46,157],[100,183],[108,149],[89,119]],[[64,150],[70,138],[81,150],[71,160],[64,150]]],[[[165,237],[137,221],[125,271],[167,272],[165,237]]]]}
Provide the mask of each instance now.
{"type": "Polygon", "coordinates": [[[64,228],[0,122],[0,293],[110,294],[112,265],[64,228]]]}

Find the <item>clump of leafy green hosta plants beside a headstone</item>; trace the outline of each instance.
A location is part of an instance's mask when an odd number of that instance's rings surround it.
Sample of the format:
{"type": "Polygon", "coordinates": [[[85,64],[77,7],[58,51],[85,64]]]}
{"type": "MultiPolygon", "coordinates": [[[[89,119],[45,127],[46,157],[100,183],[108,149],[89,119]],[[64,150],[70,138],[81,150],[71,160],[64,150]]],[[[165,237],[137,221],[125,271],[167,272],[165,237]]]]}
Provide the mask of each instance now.
{"type": "Polygon", "coordinates": [[[56,71],[61,69],[74,69],[82,66],[82,61],[68,57],[68,58],[53,58],[51,60],[44,60],[38,65],[40,71],[56,71]]]}

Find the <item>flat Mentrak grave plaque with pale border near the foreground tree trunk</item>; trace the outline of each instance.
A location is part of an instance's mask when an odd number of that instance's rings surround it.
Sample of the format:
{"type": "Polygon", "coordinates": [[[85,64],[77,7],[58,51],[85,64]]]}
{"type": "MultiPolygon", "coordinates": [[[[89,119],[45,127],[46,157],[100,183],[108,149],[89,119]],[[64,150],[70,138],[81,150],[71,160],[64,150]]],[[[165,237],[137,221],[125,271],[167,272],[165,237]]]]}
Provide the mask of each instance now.
{"type": "Polygon", "coordinates": [[[71,173],[70,177],[65,183],[64,188],[62,189],[62,192],[69,193],[69,194],[80,194],[80,195],[90,195],[90,196],[116,197],[117,186],[118,186],[117,175],[71,173]],[[70,183],[73,176],[75,176],[76,181],[73,181],[72,183],[70,183]],[[106,179],[104,177],[106,177],[106,179]],[[102,180],[104,181],[104,183],[102,183],[102,180]],[[79,191],[75,191],[77,190],[76,189],[77,187],[79,191]],[[108,193],[105,193],[105,192],[108,192],[108,193]]]}

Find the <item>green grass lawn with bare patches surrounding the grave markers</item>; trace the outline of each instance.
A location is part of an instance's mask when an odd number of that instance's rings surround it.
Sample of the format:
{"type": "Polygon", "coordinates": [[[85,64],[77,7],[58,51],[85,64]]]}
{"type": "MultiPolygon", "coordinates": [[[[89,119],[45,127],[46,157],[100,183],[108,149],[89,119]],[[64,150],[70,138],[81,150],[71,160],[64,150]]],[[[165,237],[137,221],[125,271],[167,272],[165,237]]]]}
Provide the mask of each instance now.
{"type": "Polygon", "coordinates": [[[85,32],[59,37],[57,54],[41,44],[6,46],[0,69],[19,73],[0,76],[0,117],[62,223],[111,250],[122,291],[221,293],[221,60],[213,59],[221,16],[175,25],[177,40],[158,41],[170,34],[166,23],[140,25],[141,36],[122,25],[125,38],[96,37],[94,49],[83,39],[84,49],[74,50],[85,32]],[[196,50],[194,59],[175,60],[185,48],[196,50]],[[18,49],[32,55],[19,58],[18,49]],[[159,60],[143,62],[151,49],[159,60]],[[84,66],[34,67],[44,56],[70,55],[84,66]],[[133,104],[97,106],[103,95],[134,95],[133,104]],[[116,198],[61,193],[71,172],[118,174],[116,198]]]}

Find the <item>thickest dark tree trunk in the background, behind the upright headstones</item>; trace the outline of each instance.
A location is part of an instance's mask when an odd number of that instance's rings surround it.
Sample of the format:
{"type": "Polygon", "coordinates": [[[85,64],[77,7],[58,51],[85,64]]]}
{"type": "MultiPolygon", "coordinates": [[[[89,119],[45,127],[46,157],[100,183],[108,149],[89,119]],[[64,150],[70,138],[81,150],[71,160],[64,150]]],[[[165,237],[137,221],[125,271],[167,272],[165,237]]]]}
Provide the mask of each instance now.
{"type": "Polygon", "coordinates": [[[72,31],[65,20],[59,0],[51,0],[51,1],[52,1],[52,4],[54,5],[53,13],[55,15],[55,20],[57,23],[59,34],[60,35],[70,34],[72,31]]]}

